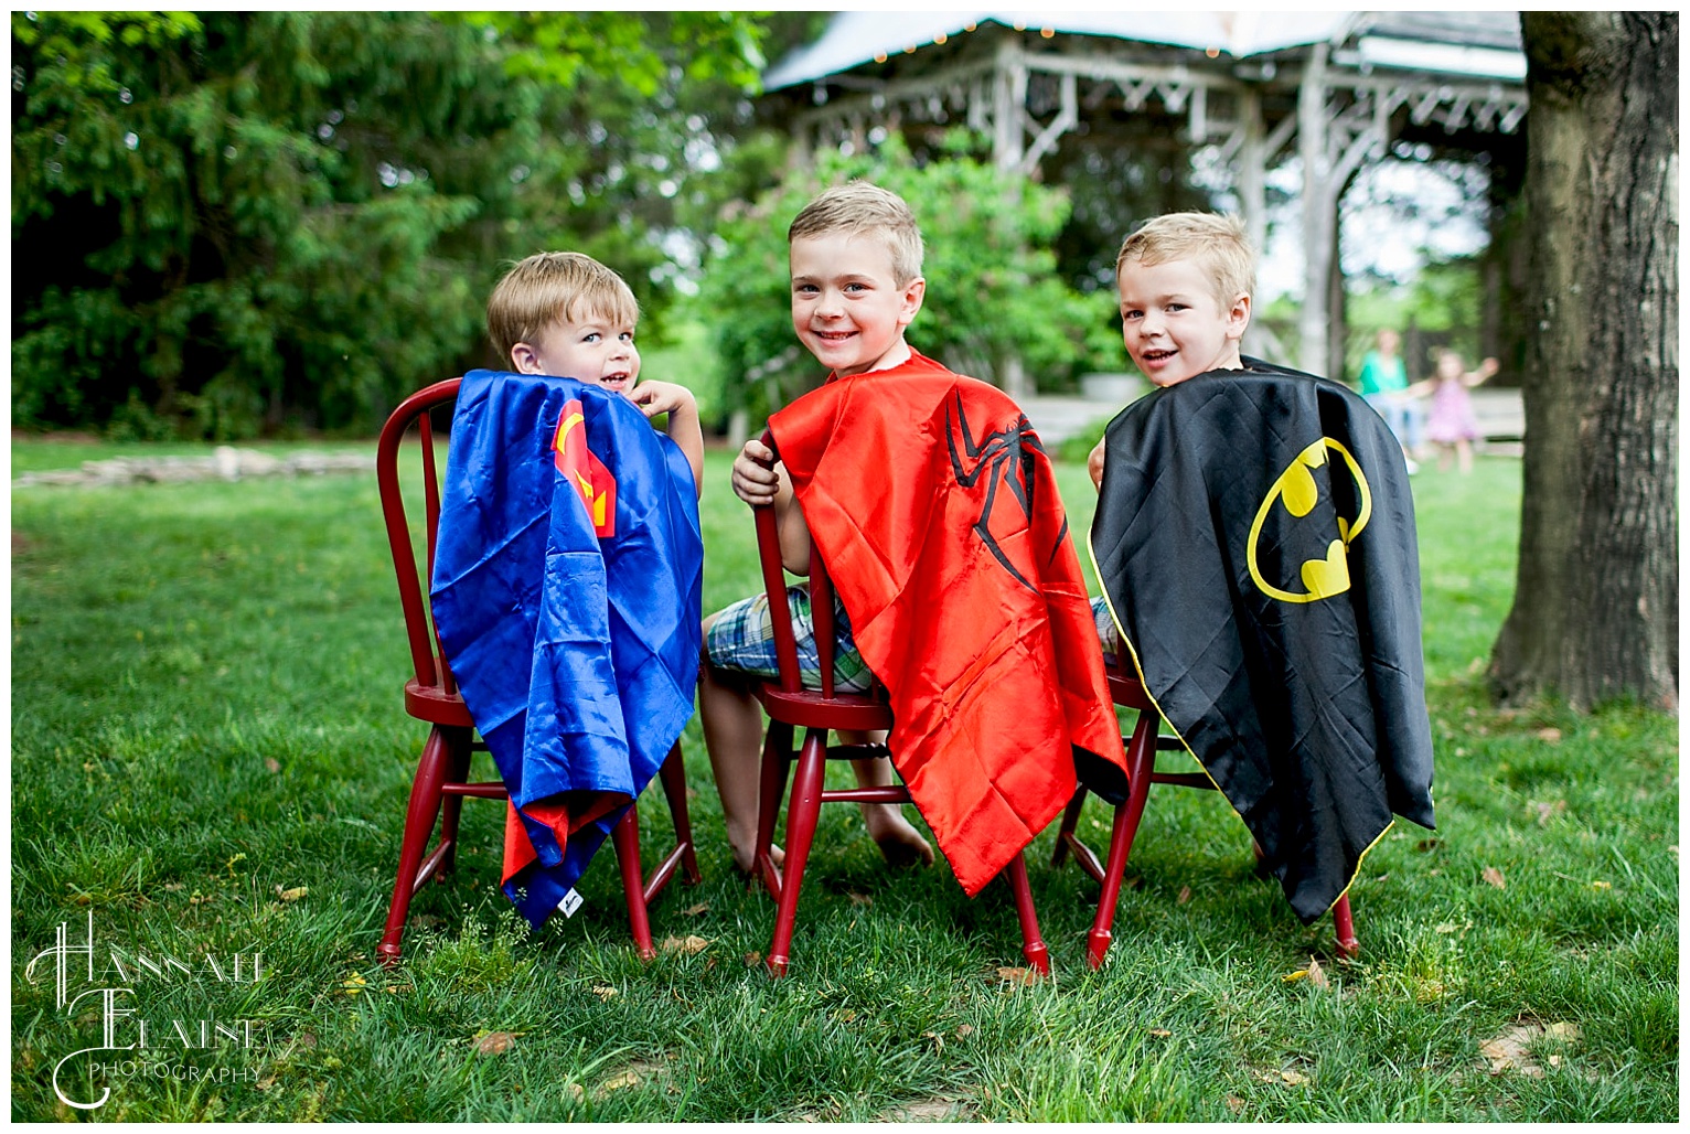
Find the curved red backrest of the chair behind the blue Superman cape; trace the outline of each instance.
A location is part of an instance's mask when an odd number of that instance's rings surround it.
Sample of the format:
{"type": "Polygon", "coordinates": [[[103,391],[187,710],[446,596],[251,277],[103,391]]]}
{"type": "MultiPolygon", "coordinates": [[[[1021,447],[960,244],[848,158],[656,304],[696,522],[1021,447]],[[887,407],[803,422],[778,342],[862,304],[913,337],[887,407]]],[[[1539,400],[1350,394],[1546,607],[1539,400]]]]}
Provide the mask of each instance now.
{"type": "Polygon", "coordinates": [[[422,690],[436,691],[446,698],[456,698],[458,688],[446,664],[446,652],[441,649],[439,635],[434,632],[428,603],[428,585],[434,573],[434,542],[439,527],[439,468],[434,453],[434,431],[429,412],[453,402],[458,397],[461,379],[436,382],[417,390],[399,404],[382,426],[380,441],[375,448],[375,483],[382,497],[382,519],[387,526],[387,544],[394,556],[394,573],[399,578],[399,605],[406,615],[406,639],[411,646],[411,664],[416,669],[416,684],[422,690]],[[417,426],[422,441],[422,527],[426,541],[426,563],[417,570],[416,549],[411,542],[411,524],[406,515],[406,502],[401,477],[401,443],[417,426]]]}

